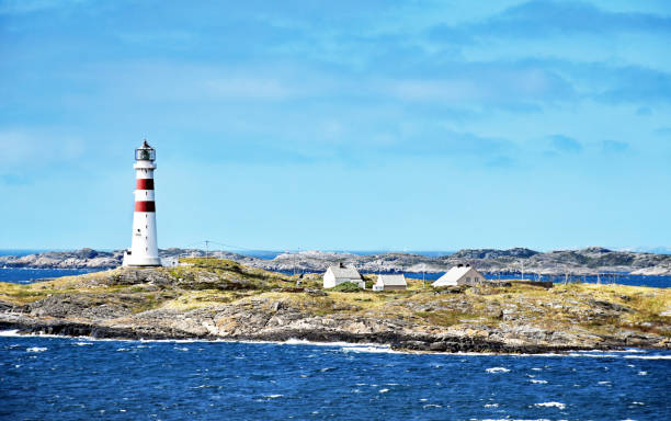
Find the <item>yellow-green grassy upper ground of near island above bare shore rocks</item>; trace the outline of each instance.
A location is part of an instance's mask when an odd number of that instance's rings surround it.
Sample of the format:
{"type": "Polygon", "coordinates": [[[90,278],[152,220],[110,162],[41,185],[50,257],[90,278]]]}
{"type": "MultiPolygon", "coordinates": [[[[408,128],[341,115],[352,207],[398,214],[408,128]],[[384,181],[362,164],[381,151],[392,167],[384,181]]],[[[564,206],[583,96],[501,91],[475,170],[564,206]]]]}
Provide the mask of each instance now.
{"type": "MultiPolygon", "coordinates": [[[[223,259],[183,259],[186,265],[152,270],[118,269],[20,285],[0,283],[0,301],[30,305],[67,294],[91,306],[114,303],[134,314],[149,309],[191,310],[252,300],[282,300],[306,316],[354,315],[396,318],[431,327],[524,323],[546,330],[583,329],[594,334],[616,329],[671,337],[671,288],[560,284],[543,288],[511,286],[423,288],[408,280],[407,291],[363,291],[354,283],[321,289],[320,274],[298,276],[247,268],[223,259]]],[[[371,283],[373,277],[365,277],[371,283]]]]}

